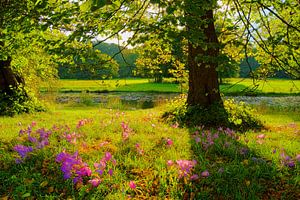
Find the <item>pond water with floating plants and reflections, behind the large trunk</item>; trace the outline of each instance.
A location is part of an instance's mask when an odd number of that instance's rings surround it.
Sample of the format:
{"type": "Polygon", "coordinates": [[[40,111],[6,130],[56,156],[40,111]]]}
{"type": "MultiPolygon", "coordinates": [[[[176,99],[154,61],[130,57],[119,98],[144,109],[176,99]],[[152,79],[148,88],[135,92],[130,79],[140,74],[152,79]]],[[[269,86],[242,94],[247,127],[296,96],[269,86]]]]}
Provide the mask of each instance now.
{"type": "MultiPolygon", "coordinates": [[[[56,97],[59,104],[101,104],[105,107],[127,109],[146,109],[162,105],[178,97],[178,93],[146,93],[146,92],[109,92],[109,93],[60,93],[56,97]]],[[[300,96],[264,97],[264,96],[236,96],[235,101],[243,101],[250,105],[266,106],[300,106],[300,96]]]]}

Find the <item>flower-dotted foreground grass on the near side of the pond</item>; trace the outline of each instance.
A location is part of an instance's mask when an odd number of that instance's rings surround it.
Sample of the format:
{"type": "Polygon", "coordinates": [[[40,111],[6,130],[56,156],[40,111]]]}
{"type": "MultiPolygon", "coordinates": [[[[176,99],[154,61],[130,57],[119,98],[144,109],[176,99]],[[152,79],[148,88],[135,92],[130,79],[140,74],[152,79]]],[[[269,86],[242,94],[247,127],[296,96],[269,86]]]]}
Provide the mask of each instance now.
{"type": "Polygon", "coordinates": [[[225,128],[168,125],[159,118],[164,109],[60,107],[48,113],[1,117],[0,197],[300,198],[298,111],[260,109],[268,130],[241,134],[225,128]],[[25,131],[21,136],[20,129],[25,131]],[[38,141],[30,142],[28,132],[38,141]],[[43,143],[45,138],[49,144],[43,143]],[[13,150],[17,144],[33,146],[20,164],[13,150]],[[61,152],[78,155],[57,162],[61,152]],[[83,173],[87,165],[91,174],[83,173]],[[62,169],[66,173],[70,166],[71,178],[64,179],[62,169]],[[79,176],[82,181],[74,184],[73,178],[79,176]],[[101,183],[93,187],[98,180],[101,183]]]}

